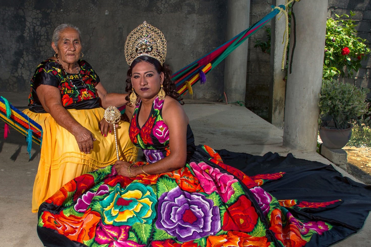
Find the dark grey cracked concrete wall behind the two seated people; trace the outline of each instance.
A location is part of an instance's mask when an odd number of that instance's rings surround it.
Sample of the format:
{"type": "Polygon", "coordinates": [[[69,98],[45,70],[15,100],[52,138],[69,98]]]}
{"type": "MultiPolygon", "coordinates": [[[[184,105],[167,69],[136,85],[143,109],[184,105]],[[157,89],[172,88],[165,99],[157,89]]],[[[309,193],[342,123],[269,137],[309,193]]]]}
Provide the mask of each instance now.
{"type": "MultiPolygon", "coordinates": [[[[53,56],[53,30],[72,23],[82,32],[84,59],[108,91],[124,91],[128,33],[146,20],[167,39],[167,63],[177,71],[225,42],[223,0],[0,1],[0,92],[26,92],[40,61],[53,56]]],[[[219,99],[224,64],[194,88],[195,99],[219,99]]],[[[189,98],[186,95],[184,98],[189,98]]]]}

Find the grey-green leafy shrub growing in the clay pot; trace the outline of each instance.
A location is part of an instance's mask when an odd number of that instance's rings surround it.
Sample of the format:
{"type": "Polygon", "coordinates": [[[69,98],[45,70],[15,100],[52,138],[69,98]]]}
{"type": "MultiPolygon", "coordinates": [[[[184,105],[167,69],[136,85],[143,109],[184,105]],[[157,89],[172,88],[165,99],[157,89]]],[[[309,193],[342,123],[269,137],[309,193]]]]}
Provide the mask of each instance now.
{"type": "Polygon", "coordinates": [[[321,94],[318,95],[320,123],[329,116],[334,120],[335,128],[349,128],[349,124],[357,122],[360,116],[367,113],[365,98],[369,91],[334,79],[322,80],[321,94]]]}

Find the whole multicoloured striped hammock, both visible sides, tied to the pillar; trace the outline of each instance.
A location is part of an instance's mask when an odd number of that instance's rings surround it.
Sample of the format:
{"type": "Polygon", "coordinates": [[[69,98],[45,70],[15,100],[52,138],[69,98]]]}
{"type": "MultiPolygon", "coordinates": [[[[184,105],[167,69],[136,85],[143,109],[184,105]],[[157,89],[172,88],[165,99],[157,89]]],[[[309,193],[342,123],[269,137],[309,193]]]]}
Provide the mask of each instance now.
{"type": "MultiPolygon", "coordinates": [[[[296,0],[295,0],[296,1],[296,0]]],[[[272,6],[273,8],[273,6],[272,6]]],[[[185,94],[187,91],[193,94],[192,86],[198,81],[201,84],[206,82],[206,74],[213,70],[221,61],[223,61],[234,49],[243,43],[248,37],[254,34],[257,30],[262,28],[267,22],[273,19],[278,13],[285,10],[284,5],[280,5],[279,8],[275,7],[267,14],[263,19],[250,26],[248,29],[234,36],[232,39],[222,44],[215,50],[201,57],[200,59],[193,61],[192,63],[185,66],[183,69],[178,70],[172,74],[176,90],[180,95],[185,94]]],[[[124,113],[125,106],[120,107],[121,113],[124,113]]],[[[31,151],[31,143],[37,143],[41,146],[42,142],[42,127],[32,119],[19,111],[16,107],[8,103],[8,101],[0,97],[0,119],[3,120],[9,126],[12,126],[21,134],[26,136],[27,151],[31,151]]],[[[4,137],[7,137],[9,131],[8,126],[4,128],[4,137]]],[[[31,154],[30,154],[31,157],[31,154]]]]}

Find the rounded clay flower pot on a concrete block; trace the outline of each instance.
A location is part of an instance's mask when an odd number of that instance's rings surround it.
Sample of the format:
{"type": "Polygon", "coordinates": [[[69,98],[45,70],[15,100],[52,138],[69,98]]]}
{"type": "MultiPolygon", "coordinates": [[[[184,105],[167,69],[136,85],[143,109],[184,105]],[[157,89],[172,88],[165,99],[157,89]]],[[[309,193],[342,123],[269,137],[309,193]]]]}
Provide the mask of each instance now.
{"type": "Polygon", "coordinates": [[[319,128],[319,136],[323,144],[328,148],[342,148],[347,145],[350,137],[352,136],[353,126],[344,130],[335,129],[333,127],[319,128]]]}

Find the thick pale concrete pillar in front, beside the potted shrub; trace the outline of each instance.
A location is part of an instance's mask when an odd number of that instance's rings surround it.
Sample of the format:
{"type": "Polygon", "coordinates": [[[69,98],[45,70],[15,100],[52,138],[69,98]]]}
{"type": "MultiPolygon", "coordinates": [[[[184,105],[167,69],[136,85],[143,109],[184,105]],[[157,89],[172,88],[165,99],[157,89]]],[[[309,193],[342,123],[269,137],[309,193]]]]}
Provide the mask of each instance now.
{"type": "Polygon", "coordinates": [[[328,0],[293,5],[283,129],[283,146],[289,148],[316,150],[327,6],[328,0]]]}

